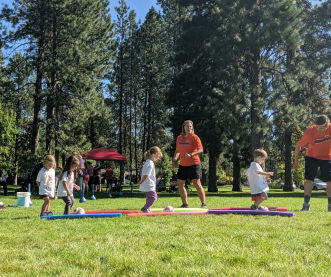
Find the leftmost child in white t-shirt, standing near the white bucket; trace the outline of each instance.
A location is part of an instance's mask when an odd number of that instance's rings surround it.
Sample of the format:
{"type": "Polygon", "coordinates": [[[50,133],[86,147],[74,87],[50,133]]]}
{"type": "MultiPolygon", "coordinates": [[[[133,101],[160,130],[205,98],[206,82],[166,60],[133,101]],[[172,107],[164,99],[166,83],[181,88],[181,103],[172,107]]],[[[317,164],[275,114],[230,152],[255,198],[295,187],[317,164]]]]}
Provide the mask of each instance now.
{"type": "Polygon", "coordinates": [[[44,199],[44,204],[41,207],[40,216],[44,212],[49,211],[51,206],[51,198],[54,198],[55,191],[55,158],[52,155],[47,155],[44,158],[44,167],[40,169],[37,176],[37,186],[39,187],[39,195],[44,199]]]}

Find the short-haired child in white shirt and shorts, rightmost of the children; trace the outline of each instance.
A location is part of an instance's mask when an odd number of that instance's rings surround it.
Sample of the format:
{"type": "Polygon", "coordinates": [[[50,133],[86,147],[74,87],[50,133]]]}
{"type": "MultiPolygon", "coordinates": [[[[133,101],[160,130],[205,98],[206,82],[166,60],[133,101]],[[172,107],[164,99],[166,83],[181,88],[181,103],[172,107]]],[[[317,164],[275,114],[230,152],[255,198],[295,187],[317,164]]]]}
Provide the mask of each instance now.
{"type": "MultiPolygon", "coordinates": [[[[267,158],[267,152],[263,149],[255,149],[253,152],[254,162],[251,162],[251,166],[246,171],[247,184],[250,187],[252,200],[255,203],[251,206],[252,210],[259,209],[259,205],[268,200],[266,191],[269,190],[266,177],[267,175],[273,176],[273,172],[264,172],[261,168],[261,164],[267,158]]],[[[268,208],[261,206],[260,210],[268,211],[268,208]]]]}

